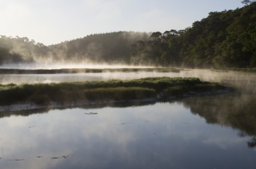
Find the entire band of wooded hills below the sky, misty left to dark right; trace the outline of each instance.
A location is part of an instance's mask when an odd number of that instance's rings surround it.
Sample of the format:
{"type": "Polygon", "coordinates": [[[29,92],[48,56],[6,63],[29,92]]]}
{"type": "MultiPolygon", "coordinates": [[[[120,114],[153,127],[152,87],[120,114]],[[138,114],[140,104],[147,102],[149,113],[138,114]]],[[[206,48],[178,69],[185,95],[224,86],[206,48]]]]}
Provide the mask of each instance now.
{"type": "MultiPolygon", "coordinates": [[[[247,2],[247,1],[246,1],[247,2]]],[[[190,68],[256,67],[256,2],[210,12],[185,30],[119,31],[45,46],[0,38],[0,65],[21,62],[123,63],[190,68]]]]}

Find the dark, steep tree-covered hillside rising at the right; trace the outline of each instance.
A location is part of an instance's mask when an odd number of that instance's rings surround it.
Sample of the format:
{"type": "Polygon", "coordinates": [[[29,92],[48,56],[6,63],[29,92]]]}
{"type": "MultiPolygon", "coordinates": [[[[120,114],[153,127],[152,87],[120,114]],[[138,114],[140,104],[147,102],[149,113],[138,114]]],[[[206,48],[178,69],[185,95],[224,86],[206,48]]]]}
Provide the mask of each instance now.
{"type": "Polygon", "coordinates": [[[132,63],[256,67],[256,2],[241,9],[211,12],[185,30],[155,32],[150,41],[135,43],[131,51],[132,63]]]}

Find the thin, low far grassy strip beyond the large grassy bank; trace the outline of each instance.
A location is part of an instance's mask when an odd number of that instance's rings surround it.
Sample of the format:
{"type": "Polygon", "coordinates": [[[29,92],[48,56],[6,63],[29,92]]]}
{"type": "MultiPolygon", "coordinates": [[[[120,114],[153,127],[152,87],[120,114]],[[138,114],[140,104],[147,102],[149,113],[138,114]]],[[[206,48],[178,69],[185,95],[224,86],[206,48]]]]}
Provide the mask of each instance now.
{"type": "Polygon", "coordinates": [[[154,68],[121,68],[121,69],[0,69],[0,74],[75,74],[75,73],[113,73],[113,72],[175,72],[181,69],[174,67],[154,68]]]}

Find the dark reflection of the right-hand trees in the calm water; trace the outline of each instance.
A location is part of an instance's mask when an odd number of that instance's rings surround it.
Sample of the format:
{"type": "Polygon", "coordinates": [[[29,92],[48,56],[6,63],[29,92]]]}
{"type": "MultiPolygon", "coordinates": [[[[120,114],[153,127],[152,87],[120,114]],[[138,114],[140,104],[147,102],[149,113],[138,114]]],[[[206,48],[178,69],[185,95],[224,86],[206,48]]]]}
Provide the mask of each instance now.
{"type": "Polygon", "coordinates": [[[219,96],[195,97],[183,100],[193,114],[206,119],[207,123],[230,126],[241,132],[241,137],[251,136],[248,147],[256,147],[256,96],[251,94],[225,94],[219,96]]]}

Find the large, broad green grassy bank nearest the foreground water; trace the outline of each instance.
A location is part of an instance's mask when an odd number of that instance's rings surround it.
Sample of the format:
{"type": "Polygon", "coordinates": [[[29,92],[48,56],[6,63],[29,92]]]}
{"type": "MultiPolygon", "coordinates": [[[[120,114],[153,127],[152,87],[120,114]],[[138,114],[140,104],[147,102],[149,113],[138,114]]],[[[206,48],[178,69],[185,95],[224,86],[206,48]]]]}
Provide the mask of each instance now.
{"type": "Polygon", "coordinates": [[[102,102],[146,98],[169,98],[225,90],[217,83],[198,78],[142,78],[130,81],[94,81],[35,84],[0,84],[0,103],[35,102],[60,104],[74,101],[102,102]]]}

